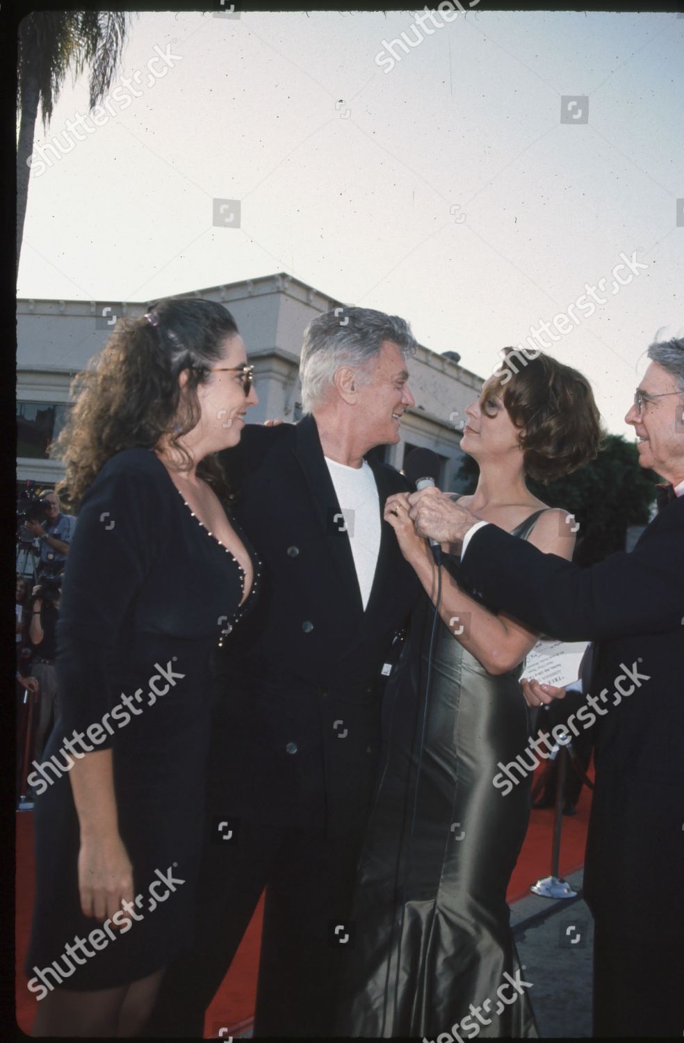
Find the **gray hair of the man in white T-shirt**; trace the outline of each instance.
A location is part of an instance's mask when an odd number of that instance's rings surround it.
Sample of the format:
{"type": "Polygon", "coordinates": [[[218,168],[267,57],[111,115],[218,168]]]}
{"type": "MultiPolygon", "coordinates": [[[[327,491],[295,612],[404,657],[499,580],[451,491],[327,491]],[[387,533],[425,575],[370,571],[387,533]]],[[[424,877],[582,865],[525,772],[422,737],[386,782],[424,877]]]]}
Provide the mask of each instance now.
{"type": "Polygon", "coordinates": [[[340,366],[359,369],[360,381],[369,383],[368,364],[386,340],[393,341],[405,357],[417,347],[411,326],[398,315],[370,308],[336,308],[313,319],[304,330],[299,361],[302,413],[312,413],[321,404],[340,366]]]}

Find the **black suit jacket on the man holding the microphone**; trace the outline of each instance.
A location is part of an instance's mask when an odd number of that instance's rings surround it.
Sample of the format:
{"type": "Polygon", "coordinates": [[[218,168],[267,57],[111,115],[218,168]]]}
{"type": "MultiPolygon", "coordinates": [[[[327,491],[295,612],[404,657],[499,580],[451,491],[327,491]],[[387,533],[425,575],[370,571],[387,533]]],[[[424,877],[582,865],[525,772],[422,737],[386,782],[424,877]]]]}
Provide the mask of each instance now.
{"type": "MultiPolygon", "coordinates": [[[[589,568],[496,526],[461,563],[478,596],[563,640],[592,639],[595,791],[585,866],[594,916],[622,933],[681,941],[684,929],[684,499],[634,550],[589,568]],[[626,672],[625,668],[628,668],[626,672]],[[648,675],[633,685],[620,675],[648,675]],[[619,696],[619,688],[629,693],[619,696]],[[604,693],[605,701],[600,696],[604,693]]],[[[582,725],[589,723],[585,715],[582,725]]]]}

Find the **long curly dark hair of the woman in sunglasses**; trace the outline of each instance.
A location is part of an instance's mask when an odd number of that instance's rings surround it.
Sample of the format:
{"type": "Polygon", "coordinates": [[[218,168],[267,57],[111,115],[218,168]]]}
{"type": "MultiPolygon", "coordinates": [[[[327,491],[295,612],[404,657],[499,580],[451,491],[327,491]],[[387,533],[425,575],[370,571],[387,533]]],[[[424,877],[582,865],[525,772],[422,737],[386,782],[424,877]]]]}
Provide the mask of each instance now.
{"type": "MultiPolygon", "coordinates": [[[[238,326],[222,305],[199,297],[165,298],[151,305],[148,314],[151,321],[145,316],[119,319],[102,350],[72,383],[75,405],[51,451],[66,465],[55,491],[71,508],[122,450],[152,448],[167,436],[182,461],[180,468],[191,466],[179,439],[199,422],[197,388],[238,326]],[[184,369],[188,381],[181,392],[178,374],[184,369]]],[[[219,495],[230,495],[213,454],[197,464],[197,475],[219,495]]]]}

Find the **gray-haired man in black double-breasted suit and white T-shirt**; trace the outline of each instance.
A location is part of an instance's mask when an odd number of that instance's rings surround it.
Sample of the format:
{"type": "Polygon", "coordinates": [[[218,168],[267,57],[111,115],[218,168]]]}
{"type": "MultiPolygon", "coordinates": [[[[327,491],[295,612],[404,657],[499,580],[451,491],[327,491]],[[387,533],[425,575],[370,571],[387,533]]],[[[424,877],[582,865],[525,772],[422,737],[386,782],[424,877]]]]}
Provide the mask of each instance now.
{"type": "Polygon", "coordinates": [[[419,592],[383,520],[408,483],[366,455],[399,440],[414,350],[396,316],[319,316],[301,351],[304,417],[248,425],[225,454],[262,590],[217,657],[197,942],[167,972],[150,1034],[201,1036],[264,888],[254,1035],[333,1032],[382,696],[419,592]]]}

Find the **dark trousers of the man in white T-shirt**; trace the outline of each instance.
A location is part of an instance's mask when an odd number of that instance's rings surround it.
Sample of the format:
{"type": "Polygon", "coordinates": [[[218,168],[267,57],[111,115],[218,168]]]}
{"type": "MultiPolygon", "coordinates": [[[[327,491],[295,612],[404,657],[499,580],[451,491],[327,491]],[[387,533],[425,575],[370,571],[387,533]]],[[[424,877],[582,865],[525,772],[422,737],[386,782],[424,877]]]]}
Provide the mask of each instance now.
{"type": "Polygon", "coordinates": [[[146,1035],[201,1038],[265,886],[254,1035],[331,1035],[344,945],[353,944],[345,936],[364,824],[326,840],[318,829],[241,821],[236,844],[207,844],[195,948],[168,968],[146,1035]]]}

